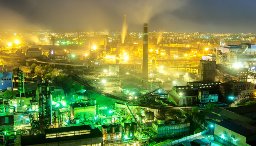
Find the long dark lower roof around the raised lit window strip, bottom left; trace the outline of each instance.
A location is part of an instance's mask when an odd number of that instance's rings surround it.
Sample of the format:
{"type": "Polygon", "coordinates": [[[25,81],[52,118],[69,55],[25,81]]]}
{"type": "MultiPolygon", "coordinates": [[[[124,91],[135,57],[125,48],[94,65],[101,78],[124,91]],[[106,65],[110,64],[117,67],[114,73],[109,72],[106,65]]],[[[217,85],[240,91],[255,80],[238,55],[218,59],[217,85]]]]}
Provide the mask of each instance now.
{"type": "MultiPolygon", "coordinates": [[[[46,139],[44,134],[22,136],[21,145],[27,146],[27,145],[35,145],[35,144],[46,144],[46,143],[52,143],[52,142],[65,142],[65,141],[81,140],[81,139],[87,139],[87,138],[93,138],[93,137],[95,138],[102,137],[102,132],[98,128],[96,128],[96,129],[91,129],[90,134],[73,135],[73,136],[66,136],[66,137],[55,137],[55,138],[46,139]]],[[[99,143],[102,143],[102,141],[99,143]]]]}

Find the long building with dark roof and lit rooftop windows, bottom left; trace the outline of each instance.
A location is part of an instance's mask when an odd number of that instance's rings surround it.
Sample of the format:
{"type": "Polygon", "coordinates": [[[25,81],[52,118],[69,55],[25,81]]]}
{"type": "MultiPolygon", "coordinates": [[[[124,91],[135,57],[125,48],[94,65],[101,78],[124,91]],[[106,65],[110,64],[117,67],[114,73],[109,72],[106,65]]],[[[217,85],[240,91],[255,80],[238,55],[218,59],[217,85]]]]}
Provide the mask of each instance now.
{"type": "Polygon", "coordinates": [[[99,129],[89,125],[45,129],[44,134],[21,137],[22,146],[103,146],[99,129]]]}

